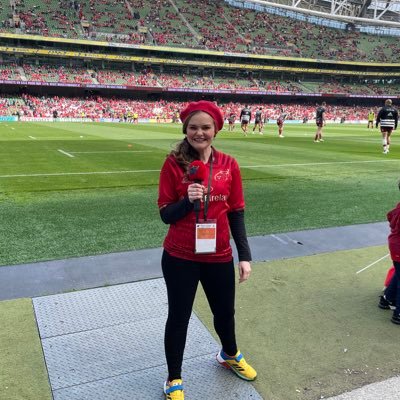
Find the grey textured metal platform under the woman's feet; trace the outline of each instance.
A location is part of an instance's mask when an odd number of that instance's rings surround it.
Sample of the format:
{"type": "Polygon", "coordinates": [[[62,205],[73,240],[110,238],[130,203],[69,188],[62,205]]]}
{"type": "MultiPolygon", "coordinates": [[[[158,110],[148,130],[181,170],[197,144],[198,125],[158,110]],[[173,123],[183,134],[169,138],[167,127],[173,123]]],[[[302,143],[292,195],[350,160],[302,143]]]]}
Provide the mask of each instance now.
{"type": "MultiPolygon", "coordinates": [[[[54,400],[157,400],[167,368],[163,279],[33,299],[54,400]]],[[[218,342],[192,315],[183,364],[186,397],[261,400],[215,361],[218,342]]]]}

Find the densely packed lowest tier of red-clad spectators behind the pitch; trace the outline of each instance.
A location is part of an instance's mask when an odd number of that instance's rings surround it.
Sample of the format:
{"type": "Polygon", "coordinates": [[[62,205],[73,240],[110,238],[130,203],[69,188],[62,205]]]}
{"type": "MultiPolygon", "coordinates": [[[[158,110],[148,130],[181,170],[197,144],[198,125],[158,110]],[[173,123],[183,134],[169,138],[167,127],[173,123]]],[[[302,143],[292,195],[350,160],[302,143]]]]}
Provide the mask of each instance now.
{"type": "MultiPolygon", "coordinates": [[[[18,109],[25,117],[51,118],[57,110],[61,118],[90,118],[94,121],[101,118],[112,118],[124,121],[124,117],[138,113],[139,119],[156,119],[160,122],[169,122],[174,119],[176,112],[186,106],[186,102],[178,101],[144,101],[117,97],[62,97],[62,96],[0,96],[0,115],[13,115],[18,109]]],[[[241,102],[219,104],[225,118],[234,113],[239,119],[240,111],[245,106],[241,102]]],[[[276,104],[255,103],[248,104],[254,112],[263,109],[269,120],[277,119],[282,113],[287,114],[287,120],[315,119],[315,103],[308,104],[276,104]]],[[[337,106],[326,107],[326,119],[339,122],[345,120],[365,120],[370,107],[365,106],[337,106]]],[[[377,108],[375,107],[375,110],[377,108]]]]}

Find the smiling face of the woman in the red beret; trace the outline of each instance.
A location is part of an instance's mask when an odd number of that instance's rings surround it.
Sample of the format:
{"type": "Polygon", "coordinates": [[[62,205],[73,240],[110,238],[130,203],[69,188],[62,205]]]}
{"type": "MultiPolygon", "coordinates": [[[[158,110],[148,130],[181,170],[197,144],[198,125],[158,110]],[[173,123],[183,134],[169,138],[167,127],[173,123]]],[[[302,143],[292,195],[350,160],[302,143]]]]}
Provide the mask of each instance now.
{"type": "Polygon", "coordinates": [[[208,149],[215,137],[215,125],[211,115],[203,111],[194,114],[186,127],[186,137],[199,153],[208,149]]]}

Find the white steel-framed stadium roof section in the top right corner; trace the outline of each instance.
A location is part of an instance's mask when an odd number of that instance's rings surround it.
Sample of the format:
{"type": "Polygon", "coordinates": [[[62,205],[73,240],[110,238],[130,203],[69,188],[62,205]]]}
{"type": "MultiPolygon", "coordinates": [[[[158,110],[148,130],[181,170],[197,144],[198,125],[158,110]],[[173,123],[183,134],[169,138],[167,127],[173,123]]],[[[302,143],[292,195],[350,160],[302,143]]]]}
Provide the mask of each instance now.
{"type": "Polygon", "coordinates": [[[400,27],[400,0],[247,0],[348,22],[400,27]]]}

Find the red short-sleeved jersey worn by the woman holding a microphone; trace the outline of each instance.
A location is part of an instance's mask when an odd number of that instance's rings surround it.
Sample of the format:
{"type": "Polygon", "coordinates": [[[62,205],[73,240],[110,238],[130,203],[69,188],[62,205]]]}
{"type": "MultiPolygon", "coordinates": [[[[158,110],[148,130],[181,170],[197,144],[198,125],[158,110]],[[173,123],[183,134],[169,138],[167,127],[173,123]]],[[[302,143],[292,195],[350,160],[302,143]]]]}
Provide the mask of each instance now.
{"type": "MultiPolygon", "coordinates": [[[[244,196],[239,165],[236,160],[213,149],[214,161],[210,189],[208,218],[217,220],[217,252],[214,254],[195,254],[194,211],[169,226],[164,240],[167,252],[178,258],[200,262],[228,262],[232,259],[228,213],[244,209],[244,196]]],[[[207,185],[210,165],[207,168],[204,184],[207,185]]],[[[173,156],[169,156],[161,169],[158,206],[175,203],[187,196],[187,187],[191,182],[173,156]]],[[[204,203],[201,202],[201,218],[204,203]]]]}

